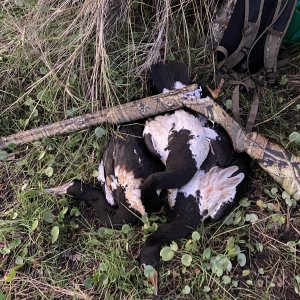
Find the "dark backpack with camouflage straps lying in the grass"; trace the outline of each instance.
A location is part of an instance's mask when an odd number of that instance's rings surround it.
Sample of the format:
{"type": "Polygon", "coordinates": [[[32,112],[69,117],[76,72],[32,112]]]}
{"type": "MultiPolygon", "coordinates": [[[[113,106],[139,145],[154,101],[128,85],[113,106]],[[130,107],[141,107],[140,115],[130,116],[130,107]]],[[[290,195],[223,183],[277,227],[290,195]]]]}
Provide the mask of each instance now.
{"type": "Polygon", "coordinates": [[[258,111],[254,83],[277,85],[278,68],[289,61],[286,54],[280,61],[278,57],[296,3],[297,0],[226,0],[212,22],[217,69],[231,79],[227,81],[229,85],[235,85],[232,111],[238,123],[240,86],[252,98],[247,132],[252,130],[258,111]],[[263,81],[254,76],[259,71],[264,75],[263,81]]]}

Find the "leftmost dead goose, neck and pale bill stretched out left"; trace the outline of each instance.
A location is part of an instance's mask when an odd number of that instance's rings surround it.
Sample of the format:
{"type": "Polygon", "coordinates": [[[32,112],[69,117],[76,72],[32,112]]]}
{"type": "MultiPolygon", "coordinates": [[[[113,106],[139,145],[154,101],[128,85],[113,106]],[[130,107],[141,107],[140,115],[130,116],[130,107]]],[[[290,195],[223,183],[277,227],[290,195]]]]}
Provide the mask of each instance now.
{"type": "Polygon", "coordinates": [[[143,124],[122,126],[108,141],[99,164],[101,189],[74,180],[47,189],[55,194],[69,194],[93,206],[101,223],[115,228],[136,224],[139,217],[158,211],[163,200],[156,193],[151,202],[141,201],[141,185],[147,176],[164,169],[143,141],[143,124]]]}

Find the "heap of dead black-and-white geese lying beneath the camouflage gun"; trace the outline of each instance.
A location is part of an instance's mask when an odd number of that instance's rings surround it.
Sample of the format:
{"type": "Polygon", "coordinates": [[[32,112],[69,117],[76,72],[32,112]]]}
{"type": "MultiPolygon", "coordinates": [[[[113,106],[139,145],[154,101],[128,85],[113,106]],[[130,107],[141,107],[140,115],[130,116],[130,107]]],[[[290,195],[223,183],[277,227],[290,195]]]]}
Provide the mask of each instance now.
{"type": "MultiPolygon", "coordinates": [[[[161,92],[188,84],[187,74],[184,64],[173,62],[155,65],[151,77],[161,92]]],[[[208,217],[224,216],[241,196],[248,165],[247,157],[234,153],[221,127],[179,110],[149,119],[145,128],[121,127],[99,166],[102,189],[73,181],[48,191],[88,202],[103,224],[114,227],[134,224],[136,214],[149,214],[166,204],[169,223],[147,238],[140,253],[142,265],[158,268],[163,245],[187,237],[208,217]]]]}

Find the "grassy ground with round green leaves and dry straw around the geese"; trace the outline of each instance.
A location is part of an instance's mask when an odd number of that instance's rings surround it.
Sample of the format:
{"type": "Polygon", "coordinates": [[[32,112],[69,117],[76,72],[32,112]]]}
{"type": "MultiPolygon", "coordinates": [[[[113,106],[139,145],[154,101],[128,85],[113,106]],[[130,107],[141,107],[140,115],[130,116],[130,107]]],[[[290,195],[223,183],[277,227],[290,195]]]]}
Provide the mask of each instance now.
{"type": "MultiPolygon", "coordinates": [[[[185,61],[194,81],[213,86],[212,10],[204,0],[2,1],[0,136],[149,95],[147,70],[159,59],[185,61]]],[[[260,92],[255,130],[299,155],[300,48],[290,50],[279,88],[260,92]]],[[[230,110],[230,91],[221,99],[230,110]]],[[[0,152],[0,299],[153,297],[151,269],[136,258],[163,214],[111,230],[44,192],[75,177],[96,183],[113,134],[101,128],[0,152]]],[[[249,197],[226,219],[163,249],[156,298],[299,299],[299,216],[253,164],[249,197]]]]}

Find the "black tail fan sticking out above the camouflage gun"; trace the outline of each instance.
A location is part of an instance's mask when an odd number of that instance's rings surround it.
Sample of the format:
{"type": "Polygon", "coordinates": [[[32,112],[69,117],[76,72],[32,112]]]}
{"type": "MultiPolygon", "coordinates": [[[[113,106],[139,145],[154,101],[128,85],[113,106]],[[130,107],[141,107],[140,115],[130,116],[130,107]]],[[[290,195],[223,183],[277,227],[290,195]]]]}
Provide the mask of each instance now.
{"type": "Polygon", "coordinates": [[[158,93],[164,92],[164,89],[173,90],[189,84],[187,65],[179,61],[153,65],[150,77],[158,93]]]}

